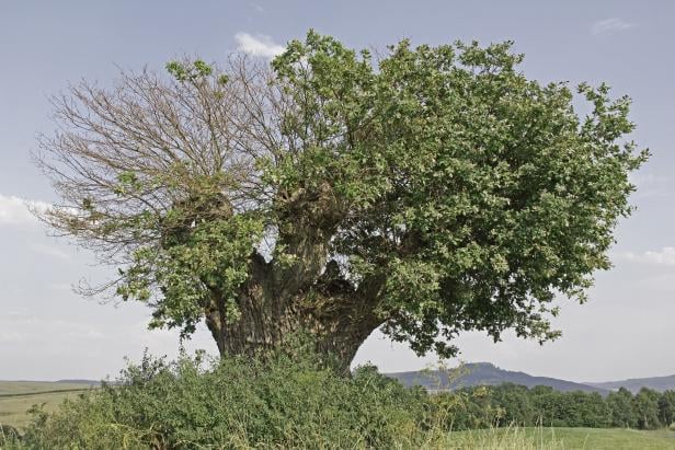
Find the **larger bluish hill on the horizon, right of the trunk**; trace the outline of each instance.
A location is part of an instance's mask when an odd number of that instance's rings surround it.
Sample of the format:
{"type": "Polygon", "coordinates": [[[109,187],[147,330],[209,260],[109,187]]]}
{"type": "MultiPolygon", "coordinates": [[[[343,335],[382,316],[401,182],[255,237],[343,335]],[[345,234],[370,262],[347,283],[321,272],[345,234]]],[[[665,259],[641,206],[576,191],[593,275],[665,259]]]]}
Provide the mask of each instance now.
{"type": "Polygon", "coordinates": [[[388,377],[399,380],[404,385],[423,385],[431,390],[447,390],[467,388],[473,385],[497,385],[502,383],[522,384],[527,388],[548,385],[557,391],[584,391],[609,393],[609,390],[599,385],[575,383],[548,377],[533,377],[525,372],[503,370],[490,362],[466,364],[459,371],[450,370],[448,376],[445,371],[416,371],[387,373],[388,377]]]}

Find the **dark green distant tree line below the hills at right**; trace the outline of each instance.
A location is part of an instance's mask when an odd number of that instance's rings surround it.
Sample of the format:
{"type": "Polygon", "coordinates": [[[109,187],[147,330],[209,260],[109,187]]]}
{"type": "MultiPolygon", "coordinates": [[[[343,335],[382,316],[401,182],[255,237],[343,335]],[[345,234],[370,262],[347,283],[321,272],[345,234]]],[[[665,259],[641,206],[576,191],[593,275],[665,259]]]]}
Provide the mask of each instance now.
{"type": "Polygon", "coordinates": [[[447,402],[454,429],[490,426],[554,426],[656,429],[675,422],[675,391],[625,388],[603,396],[597,392],[560,392],[550,386],[504,383],[464,388],[438,394],[447,402]]]}

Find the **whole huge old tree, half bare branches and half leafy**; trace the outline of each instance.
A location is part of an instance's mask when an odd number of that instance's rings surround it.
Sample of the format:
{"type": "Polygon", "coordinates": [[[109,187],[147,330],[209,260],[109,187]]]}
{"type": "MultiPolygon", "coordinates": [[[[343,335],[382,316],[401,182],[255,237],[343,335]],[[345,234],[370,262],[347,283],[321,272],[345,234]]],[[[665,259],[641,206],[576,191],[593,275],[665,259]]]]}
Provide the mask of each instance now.
{"type": "Polygon", "coordinates": [[[343,368],[376,328],[443,356],[462,331],[545,342],[556,293],[583,300],[628,180],[629,99],[540,84],[511,43],[374,61],[314,32],[271,65],[173,61],[55,99],[44,219],[147,302],[151,326],[205,320],[221,354],[305,328],[343,368]]]}

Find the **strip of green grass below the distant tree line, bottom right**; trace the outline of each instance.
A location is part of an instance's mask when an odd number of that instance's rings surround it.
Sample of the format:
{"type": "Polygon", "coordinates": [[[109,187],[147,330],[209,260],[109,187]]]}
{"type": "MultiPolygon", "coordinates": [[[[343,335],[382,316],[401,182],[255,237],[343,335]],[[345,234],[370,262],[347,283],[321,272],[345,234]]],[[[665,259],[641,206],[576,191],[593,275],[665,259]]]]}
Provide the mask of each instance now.
{"type": "Polygon", "coordinates": [[[455,449],[674,450],[675,431],[618,428],[497,428],[456,431],[455,449]]]}

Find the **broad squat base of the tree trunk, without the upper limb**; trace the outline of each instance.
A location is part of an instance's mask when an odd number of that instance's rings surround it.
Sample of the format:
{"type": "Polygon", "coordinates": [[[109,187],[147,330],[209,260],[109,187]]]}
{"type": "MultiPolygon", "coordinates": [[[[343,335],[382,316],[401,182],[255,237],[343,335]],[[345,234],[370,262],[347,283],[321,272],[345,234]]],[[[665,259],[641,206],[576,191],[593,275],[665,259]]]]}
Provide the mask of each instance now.
{"type": "Polygon", "coordinates": [[[348,372],[358,347],[382,323],[375,312],[378,282],[354,289],[343,279],[324,276],[309,287],[296,285],[290,292],[289,282],[274,282],[271,267],[262,258],[255,265],[239,297],[239,320],[226,320],[225,302],[217,296],[206,311],[206,324],[220,354],[254,355],[283,345],[295,333],[307,332],[327,362],[348,372]]]}

